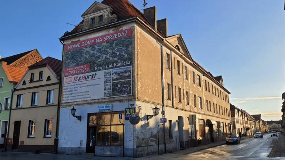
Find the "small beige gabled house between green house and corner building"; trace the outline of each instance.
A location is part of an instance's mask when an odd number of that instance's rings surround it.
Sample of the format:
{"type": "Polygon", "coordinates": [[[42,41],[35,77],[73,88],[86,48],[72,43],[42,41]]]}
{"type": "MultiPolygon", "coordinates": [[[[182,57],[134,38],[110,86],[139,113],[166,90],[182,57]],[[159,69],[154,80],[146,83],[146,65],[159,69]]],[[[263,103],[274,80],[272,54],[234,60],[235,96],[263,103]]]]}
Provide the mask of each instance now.
{"type": "Polygon", "coordinates": [[[62,62],[47,57],[28,68],[13,92],[7,150],[52,153],[62,62]]]}

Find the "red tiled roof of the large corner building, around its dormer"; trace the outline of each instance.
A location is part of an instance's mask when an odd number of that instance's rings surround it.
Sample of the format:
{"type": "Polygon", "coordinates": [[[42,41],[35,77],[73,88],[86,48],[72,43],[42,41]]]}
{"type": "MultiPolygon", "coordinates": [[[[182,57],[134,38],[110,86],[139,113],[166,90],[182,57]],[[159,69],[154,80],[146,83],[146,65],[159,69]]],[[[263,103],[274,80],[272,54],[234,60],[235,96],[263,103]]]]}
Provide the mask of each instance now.
{"type": "MultiPolygon", "coordinates": [[[[140,12],[139,9],[137,9],[132,3],[130,3],[128,0],[103,0],[101,3],[105,4],[105,5],[108,5],[110,7],[113,8],[113,12],[117,15],[118,17],[118,20],[117,22],[119,21],[122,21],[122,20],[126,20],[126,19],[129,19],[129,18],[133,18],[133,17],[138,17],[140,18],[140,20],[142,20],[143,22],[145,22],[149,27],[151,27],[152,29],[156,30],[148,21],[147,19],[145,18],[145,16],[143,15],[142,12],[140,12]]],[[[83,23],[83,20],[79,23],[79,24],[82,24],[83,23]]],[[[75,34],[78,32],[78,26],[79,24],[73,29],[70,31],[70,33],[64,35],[64,36],[67,36],[67,35],[72,35],[72,34],[75,34]]],[[[161,36],[162,33],[158,30],[157,31],[158,34],[160,34],[161,36]]],[[[63,36],[63,37],[64,37],[63,36]]],[[[164,37],[164,36],[163,36],[164,37]]]]}

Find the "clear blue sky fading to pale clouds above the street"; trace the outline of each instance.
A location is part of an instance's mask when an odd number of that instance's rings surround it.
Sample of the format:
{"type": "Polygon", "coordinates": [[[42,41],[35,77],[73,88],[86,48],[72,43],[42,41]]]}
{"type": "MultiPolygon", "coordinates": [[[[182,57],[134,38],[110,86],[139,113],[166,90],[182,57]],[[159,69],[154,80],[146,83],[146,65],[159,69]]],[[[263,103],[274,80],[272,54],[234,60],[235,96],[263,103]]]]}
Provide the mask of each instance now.
{"type": "MultiPolygon", "coordinates": [[[[101,0],[98,0],[101,2],[101,0]]],[[[93,0],[2,1],[0,54],[38,49],[62,59],[59,42],[93,0]]],[[[130,0],[143,9],[143,0],[130,0]]],[[[285,92],[284,0],[147,0],[157,19],[167,18],[168,34],[181,34],[192,56],[214,76],[223,76],[230,103],[266,121],[280,120],[285,92]]]]}

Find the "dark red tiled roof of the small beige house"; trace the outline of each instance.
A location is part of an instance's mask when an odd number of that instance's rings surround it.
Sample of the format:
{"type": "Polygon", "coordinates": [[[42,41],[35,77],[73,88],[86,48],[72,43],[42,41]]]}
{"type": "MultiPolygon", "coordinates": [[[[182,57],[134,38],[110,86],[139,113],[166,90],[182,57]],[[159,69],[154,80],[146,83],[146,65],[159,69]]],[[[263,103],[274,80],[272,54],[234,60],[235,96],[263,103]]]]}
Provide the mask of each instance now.
{"type": "Polygon", "coordinates": [[[56,74],[56,76],[61,76],[62,61],[55,59],[55,58],[52,58],[52,57],[47,57],[47,58],[39,61],[38,63],[35,63],[35,64],[29,66],[29,68],[38,67],[38,66],[44,67],[46,65],[49,65],[49,67],[51,67],[51,69],[56,74]]]}

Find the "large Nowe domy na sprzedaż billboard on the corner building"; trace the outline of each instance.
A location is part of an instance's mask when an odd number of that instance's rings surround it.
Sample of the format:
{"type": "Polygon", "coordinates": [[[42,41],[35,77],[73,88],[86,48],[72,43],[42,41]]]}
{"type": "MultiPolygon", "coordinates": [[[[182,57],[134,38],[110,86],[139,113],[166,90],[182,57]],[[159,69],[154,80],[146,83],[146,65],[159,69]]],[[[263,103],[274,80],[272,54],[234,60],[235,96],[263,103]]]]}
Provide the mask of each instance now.
{"type": "Polygon", "coordinates": [[[62,102],[132,95],[132,29],[66,44],[62,102]]]}

